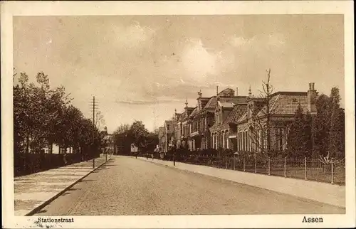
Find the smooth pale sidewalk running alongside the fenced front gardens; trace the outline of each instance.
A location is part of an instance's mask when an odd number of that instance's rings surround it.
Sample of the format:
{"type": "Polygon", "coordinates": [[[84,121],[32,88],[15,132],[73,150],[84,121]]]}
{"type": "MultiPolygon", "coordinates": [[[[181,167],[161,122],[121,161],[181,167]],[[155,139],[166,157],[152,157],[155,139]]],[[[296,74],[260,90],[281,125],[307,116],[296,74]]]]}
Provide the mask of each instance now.
{"type": "Polygon", "coordinates": [[[328,203],[334,206],[345,208],[345,186],[333,185],[331,183],[322,183],[317,181],[305,181],[300,179],[290,179],[280,176],[268,176],[263,174],[253,174],[231,169],[217,169],[210,166],[201,166],[194,164],[185,164],[176,161],[162,161],[160,159],[146,159],[137,157],[144,161],[150,161],[164,166],[174,167],[177,169],[192,171],[194,173],[214,176],[220,179],[244,183],[249,186],[265,188],[278,193],[285,193],[300,198],[307,198],[321,203],[328,203]]]}

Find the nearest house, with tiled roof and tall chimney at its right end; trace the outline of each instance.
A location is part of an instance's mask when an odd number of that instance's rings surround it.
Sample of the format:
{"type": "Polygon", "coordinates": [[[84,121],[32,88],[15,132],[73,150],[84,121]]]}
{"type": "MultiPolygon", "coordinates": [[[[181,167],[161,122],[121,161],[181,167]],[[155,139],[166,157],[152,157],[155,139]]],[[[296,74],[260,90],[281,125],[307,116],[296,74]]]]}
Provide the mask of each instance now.
{"type": "MultiPolygon", "coordinates": [[[[318,92],[314,83],[309,84],[308,92],[276,92],[271,95],[270,108],[270,145],[271,150],[283,151],[287,147],[288,128],[293,122],[295,110],[300,105],[304,112],[316,114],[315,99],[318,92]]],[[[247,110],[234,124],[234,132],[229,138],[236,139],[237,151],[266,151],[266,102],[251,96],[247,100],[247,110]]]]}

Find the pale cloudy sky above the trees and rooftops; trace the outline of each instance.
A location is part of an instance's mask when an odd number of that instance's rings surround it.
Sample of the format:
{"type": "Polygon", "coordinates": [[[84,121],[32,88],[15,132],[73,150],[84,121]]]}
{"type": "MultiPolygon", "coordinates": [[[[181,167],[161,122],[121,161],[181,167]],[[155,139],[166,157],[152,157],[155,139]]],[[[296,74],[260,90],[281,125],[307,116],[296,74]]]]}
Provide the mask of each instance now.
{"type": "MultiPolygon", "coordinates": [[[[277,91],[345,99],[340,15],[15,16],[14,68],[48,75],[92,117],[95,96],[108,132],[142,120],[147,129],[197,105],[197,92],[226,87],[259,95],[266,70],[277,91]]],[[[14,82],[16,83],[16,82],[14,82]]]]}

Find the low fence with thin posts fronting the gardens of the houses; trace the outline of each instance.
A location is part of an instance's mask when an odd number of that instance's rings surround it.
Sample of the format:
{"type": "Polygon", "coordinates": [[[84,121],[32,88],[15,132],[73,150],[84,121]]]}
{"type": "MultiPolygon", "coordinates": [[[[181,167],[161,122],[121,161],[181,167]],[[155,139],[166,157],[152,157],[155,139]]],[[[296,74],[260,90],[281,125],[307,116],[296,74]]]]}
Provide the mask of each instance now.
{"type": "MultiPolygon", "coordinates": [[[[159,159],[158,156],[155,158],[159,159]]],[[[172,161],[172,155],[164,156],[172,161]]],[[[187,164],[212,166],[219,169],[232,169],[268,176],[284,176],[325,183],[345,185],[345,159],[325,164],[319,159],[308,158],[268,158],[256,155],[215,156],[190,154],[177,156],[176,161],[187,164]]]]}

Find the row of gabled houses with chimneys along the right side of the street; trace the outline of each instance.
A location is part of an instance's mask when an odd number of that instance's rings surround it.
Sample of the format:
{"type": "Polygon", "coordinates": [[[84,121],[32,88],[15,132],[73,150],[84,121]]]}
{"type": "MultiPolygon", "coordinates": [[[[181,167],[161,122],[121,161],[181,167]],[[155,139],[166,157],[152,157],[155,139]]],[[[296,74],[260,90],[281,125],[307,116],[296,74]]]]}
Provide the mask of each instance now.
{"type": "Polygon", "coordinates": [[[211,97],[198,92],[197,105],[189,107],[186,101],[182,112],[175,110],[174,117],[159,127],[159,147],[164,152],[172,147],[263,151],[269,144],[269,149],[283,150],[298,105],[305,112],[316,113],[318,92],[313,82],[305,92],[275,92],[268,100],[254,97],[251,88],[248,95],[238,92],[237,87],[221,92],[216,87],[216,95],[211,97]]]}

